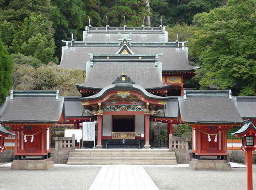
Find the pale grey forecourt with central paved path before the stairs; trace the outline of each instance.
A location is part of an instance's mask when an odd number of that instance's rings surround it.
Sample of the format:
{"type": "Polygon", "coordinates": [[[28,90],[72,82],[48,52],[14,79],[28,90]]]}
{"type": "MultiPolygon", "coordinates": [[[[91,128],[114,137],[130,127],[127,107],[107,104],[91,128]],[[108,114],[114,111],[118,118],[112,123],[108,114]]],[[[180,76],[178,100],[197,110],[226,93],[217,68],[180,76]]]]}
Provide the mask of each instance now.
{"type": "MultiPolygon", "coordinates": [[[[6,190],[246,190],[246,166],[232,171],[194,171],[188,165],[54,165],[50,171],[11,170],[1,163],[0,189],[6,190]]],[[[256,189],[256,165],[253,168],[256,189]]]]}

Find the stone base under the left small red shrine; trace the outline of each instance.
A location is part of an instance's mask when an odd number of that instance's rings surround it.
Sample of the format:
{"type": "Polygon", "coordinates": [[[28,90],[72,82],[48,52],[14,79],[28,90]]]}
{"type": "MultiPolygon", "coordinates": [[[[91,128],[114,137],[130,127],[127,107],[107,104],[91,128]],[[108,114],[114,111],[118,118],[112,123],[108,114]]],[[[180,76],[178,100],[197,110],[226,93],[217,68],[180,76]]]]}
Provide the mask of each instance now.
{"type": "Polygon", "coordinates": [[[52,170],[54,164],[52,159],[45,160],[14,160],[11,166],[12,170],[52,170]]]}

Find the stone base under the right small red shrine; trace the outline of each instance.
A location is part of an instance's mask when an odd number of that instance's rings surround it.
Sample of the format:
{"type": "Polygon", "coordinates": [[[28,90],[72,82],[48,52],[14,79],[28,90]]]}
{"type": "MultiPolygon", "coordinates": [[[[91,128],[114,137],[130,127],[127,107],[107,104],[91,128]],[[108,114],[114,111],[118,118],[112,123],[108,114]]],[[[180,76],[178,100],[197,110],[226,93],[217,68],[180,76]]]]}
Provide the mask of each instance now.
{"type": "Polygon", "coordinates": [[[189,162],[189,167],[194,170],[231,171],[230,163],[227,160],[192,159],[189,162]]]}

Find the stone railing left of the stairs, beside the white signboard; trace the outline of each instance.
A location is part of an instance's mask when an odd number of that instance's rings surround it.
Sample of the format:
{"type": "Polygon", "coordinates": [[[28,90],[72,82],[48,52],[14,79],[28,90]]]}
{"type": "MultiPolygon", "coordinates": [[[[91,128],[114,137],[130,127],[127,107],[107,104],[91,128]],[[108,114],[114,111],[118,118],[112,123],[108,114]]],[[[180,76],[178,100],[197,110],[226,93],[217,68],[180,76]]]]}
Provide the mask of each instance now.
{"type": "Polygon", "coordinates": [[[68,163],[68,155],[70,151],[75,150],[75,135],[72,137],[54,137],[55,151],[54,164],[68,163]]]}

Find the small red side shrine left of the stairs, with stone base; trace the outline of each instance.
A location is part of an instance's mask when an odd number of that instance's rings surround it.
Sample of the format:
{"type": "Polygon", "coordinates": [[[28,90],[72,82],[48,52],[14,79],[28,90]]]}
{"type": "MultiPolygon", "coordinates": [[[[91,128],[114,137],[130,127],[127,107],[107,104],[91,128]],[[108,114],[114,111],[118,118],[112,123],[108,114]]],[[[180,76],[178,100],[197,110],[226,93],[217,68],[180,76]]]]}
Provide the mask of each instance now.
{"type": "Polygon", "coordinates": [[[15,131],[12,169],[50,170],[50,127],[65,120],[59,90],[12,90],[1,121],[15,131]]]}

